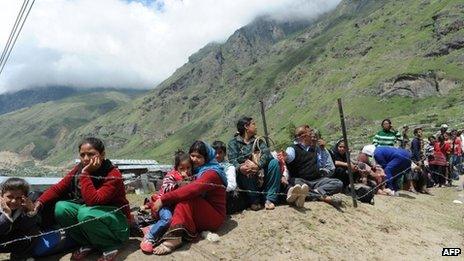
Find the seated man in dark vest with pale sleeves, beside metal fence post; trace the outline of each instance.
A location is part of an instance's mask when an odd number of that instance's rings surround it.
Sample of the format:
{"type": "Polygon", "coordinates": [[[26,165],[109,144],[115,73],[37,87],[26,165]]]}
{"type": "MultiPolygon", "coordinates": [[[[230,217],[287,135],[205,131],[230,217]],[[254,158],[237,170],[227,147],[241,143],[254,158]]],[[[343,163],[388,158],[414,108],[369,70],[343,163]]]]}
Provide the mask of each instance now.
{"type": "Polygon", "coordinates": [[[319,200],[340,207],[340,199],[331,195],[343,189],[343,182],[328,178],[318,153],[320,148],[314,132],[307,125],[297,127],[295,130],[295,143],[286,149],[285,162],[290,172],[287,202],[302,207],[306,196],[311,201],[319,200]]]}

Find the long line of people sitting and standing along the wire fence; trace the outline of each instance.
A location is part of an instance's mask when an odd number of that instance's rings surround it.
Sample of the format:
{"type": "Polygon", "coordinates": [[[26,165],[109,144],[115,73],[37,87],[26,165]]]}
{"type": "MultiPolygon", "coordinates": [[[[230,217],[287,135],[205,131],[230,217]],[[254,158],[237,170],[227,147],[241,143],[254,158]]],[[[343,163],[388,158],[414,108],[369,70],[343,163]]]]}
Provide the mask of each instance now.
{"type": "MultiPolygon", "coordinates": [[[[422,130],[415,129],[409,151],[405,133],[398,135],[388,119],[382,127],[374,144],[365,146],[353,162],[348,160],[343,140],[329,150],[318,131],[308,125],[295,128],[294,141],[285,150],[271,152],[257,136],[256,122],[250,117],[237,122],[237,132],[227,145],[195,141],[188,153],[176,152],[174,168],[164,177],[161,189],[140,208],[139,213],[149,217],[145,225],[149,224],[141,229],[141,250],[169,254],[184,242],[197,240],[202,231],[218,230],[227,214],[246,208],[273,210],[278,204],[301,208],[305,201],[321,201],[340,209],[343,202],[334,195],[349,192],[349,168],[355,193],[363,202],[372,202],[376,193],[396,195],[401,187],[429,193],[429,177],[434,172],[427,169],[446,171],[436,167],[445,164],[439,152],[450,151],[447,146],[452,146],[453,166],[462,160],[457,132],[451,134],[454,145],[441,141],[446,130],[438,141],[427,145],[422,130]],[[398,140],[403,148],[394,147],[398,140]]],[[[101,140],[84,139],[78,151],[80,163],[35,198],[20,178],[8,179],[1,188],[1,242],[71,227],[66,235],[58,235],[56,241],[61,243],[50,244],[50,238],[37,237],[0,243],[0,251],[10,252],[12,259],[70,249],[74,249],[73,260],[97,250],[101,261],[116,258],[137,224],[121,173],[105,158],[101,140]]],[[[448,160],[446,155],[444,160],[448,160]]]]}

